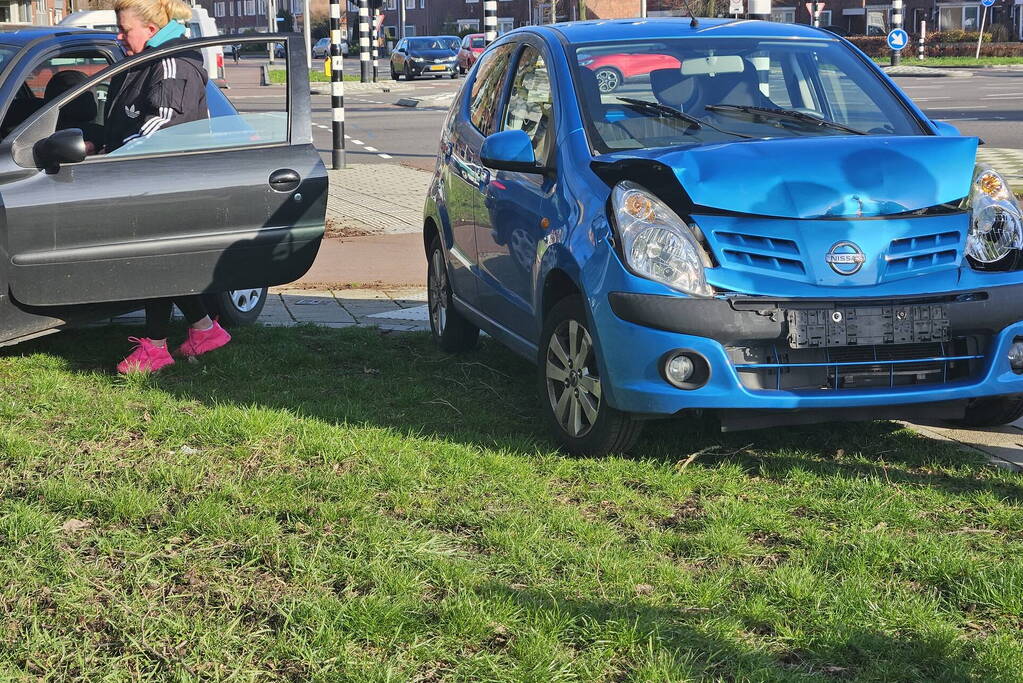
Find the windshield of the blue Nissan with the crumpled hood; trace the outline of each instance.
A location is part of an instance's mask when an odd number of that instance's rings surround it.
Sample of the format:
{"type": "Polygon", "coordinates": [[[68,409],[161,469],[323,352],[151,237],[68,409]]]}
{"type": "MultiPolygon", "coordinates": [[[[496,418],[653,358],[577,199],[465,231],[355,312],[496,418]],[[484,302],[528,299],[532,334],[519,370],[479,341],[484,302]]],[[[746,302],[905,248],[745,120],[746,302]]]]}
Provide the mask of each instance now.
{"type": "Polygon", "coordinates": [[[923,132],[885,84],[837,41],[602,43],[576,48],[575,61],[583,117],[601,152],[923,132]]]}

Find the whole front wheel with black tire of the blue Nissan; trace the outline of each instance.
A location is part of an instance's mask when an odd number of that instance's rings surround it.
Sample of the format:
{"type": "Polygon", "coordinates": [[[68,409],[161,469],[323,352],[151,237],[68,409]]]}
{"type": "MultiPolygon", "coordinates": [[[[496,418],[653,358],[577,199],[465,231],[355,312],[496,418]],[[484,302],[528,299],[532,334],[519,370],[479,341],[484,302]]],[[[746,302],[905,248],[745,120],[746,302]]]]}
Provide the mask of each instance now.
{"type": "Polygon", "coordinates": [[[541,410],[565,451],[590,456],[624,453],[639,439],[643,423],[603,399],[589,327],[578,295],[558,302],[544,320],[537,356],[541,410]]]}

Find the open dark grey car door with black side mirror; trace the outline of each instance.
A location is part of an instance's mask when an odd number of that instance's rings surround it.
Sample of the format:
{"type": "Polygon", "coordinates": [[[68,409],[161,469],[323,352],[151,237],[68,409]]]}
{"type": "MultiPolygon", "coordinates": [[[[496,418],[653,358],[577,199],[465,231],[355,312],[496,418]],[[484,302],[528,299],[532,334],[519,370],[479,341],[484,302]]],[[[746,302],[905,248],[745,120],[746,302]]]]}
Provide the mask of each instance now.
{"type": "MultiPolygon", "coordinates": [[[[102,107],[93,106],[102,125],[102,107]]],[[[175,42],[68,90],[0,144],[0,257],[7,261],[0,272],[7,271],[13,299],[64,306],[297,279],[316,256],[326,212],[326,171],[310,116],[301,36],[175,42]],[[113,153],[52,161],[77,142],[61,112],[89,97],[101,104],[118,74],[178,52],[257,42],[286,46],[279,106],[239,113],[220,102],[214,118],[162,128],[113,153]]]]}

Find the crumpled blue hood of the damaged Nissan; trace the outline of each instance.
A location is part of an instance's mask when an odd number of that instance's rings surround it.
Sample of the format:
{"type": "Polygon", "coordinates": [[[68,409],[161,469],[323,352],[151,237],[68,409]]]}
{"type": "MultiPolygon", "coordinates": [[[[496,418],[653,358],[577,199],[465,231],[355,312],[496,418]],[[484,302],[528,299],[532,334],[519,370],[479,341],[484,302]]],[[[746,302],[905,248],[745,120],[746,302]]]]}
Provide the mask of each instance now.
{"type": "Polygon", "coordinates": [[[975,137],[835,136],[615,152],[670,167],[701,207],[779,218],[889,216],[969,193],[975,137]]]}

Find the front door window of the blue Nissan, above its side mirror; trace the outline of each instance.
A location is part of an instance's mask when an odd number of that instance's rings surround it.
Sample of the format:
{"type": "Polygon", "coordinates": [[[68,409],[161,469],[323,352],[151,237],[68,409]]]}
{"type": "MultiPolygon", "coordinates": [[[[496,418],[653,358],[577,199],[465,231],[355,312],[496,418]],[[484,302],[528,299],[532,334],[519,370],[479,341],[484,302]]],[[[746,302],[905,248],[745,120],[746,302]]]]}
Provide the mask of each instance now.
{"type": "Polygon", "coordinates": [[[551,103],[547,64],[538,50],[527,47],[511,83],[502,130],[525,131],[533,141],[533,152],[540,164],[547,161],[547,138],[553,117],[551,103]]]}

